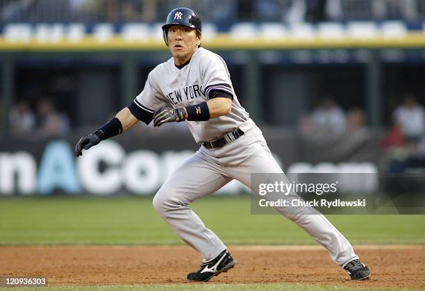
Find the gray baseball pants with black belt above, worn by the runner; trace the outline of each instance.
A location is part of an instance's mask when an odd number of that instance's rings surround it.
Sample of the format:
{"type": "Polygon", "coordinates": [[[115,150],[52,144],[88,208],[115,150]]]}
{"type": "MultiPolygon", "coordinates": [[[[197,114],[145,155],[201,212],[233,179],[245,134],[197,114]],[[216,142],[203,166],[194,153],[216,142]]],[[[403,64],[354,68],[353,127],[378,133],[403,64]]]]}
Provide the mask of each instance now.
{"type": "MultiPolygon", "coordinates": [[[[233,179],[251,188],[251,173],[283,173],[257,126],[221,149],[201,146],[169,176],[156,193],[153,206],[183,241],[201,253],[203,262],[208,262],[226,246],[206,228],[189,204],[212,194],[233,179]]],[[[358,258],[348,240],[324,215],[288,214],[284,207],[276,210],[328,249],[331,259],[338,265],[344,267],[358,258]]]]}

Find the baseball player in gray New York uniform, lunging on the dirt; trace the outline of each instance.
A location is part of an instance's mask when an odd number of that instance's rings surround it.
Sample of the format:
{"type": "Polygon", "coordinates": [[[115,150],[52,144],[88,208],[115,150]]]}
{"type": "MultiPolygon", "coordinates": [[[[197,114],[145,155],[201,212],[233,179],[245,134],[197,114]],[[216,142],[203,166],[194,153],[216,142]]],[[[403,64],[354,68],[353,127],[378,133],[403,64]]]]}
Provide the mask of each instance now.
{"type": "MultiPolygon", "coordinates": [[[[123,133],[138,120],[154,126],[185,121],[200,148],[158,190],[153,206],[177,235],[199,251],[203,263],[190,281],[208,281],[235,265],[226,246],[189,207],[237,179],[251,188],[251,173],[283,173],[263,134],[233,90],[224,60],[201,47],[201,19],[189,8],[172,10],[163,26],[172,58],[153,69],[143,91],[97,131],[76,144],[76,156],[101,140],[123,133]]],[[[328,249],[353,280],[370,276],[346,238],[324,215],[278,213],[301,226],[328,249]]]]}

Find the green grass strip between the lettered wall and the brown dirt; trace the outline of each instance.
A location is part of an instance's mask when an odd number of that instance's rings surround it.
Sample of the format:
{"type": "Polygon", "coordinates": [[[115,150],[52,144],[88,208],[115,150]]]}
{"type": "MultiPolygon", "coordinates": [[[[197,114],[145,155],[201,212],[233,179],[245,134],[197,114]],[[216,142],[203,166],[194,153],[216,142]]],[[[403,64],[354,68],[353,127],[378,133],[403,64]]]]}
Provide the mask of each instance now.
{"type": "MultiPolygon", "coordinates": [[[[0,245],[183,244],[151,197],[0,199],[0,245]]],[[[226,244],[315,244],[281,215],[251,215],[250,197],[206,197],[194,210],[226,244]]],[[[329,215],[353,244],[425,244],[424,215],[329,215]]]]}

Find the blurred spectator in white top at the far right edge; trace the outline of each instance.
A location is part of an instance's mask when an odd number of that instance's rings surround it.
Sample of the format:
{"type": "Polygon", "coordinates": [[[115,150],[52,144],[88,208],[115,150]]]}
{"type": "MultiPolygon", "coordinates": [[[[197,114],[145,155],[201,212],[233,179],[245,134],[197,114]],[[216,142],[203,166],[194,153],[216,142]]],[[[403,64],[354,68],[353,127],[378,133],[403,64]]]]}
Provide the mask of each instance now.
{"type": "Polygon", "coordinates": [[[394,122],[401,126],[407,141],[417,142],[425,133],[425,111],[414,95],[409,94],[404,103],[394,110],[394,122]]]}

